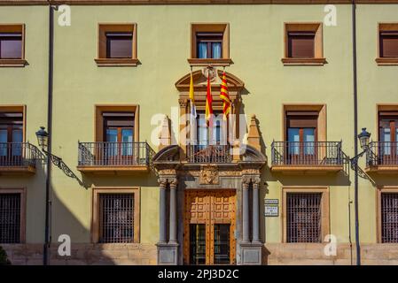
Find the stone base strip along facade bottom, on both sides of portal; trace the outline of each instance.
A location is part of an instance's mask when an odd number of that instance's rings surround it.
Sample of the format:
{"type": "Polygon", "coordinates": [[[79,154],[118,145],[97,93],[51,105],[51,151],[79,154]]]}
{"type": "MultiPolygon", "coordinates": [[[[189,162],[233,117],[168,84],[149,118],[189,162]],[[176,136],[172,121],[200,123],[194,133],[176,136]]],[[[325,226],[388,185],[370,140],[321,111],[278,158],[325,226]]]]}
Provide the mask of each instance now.
{"type": "MultiPolygon", "coordinates": [[[[43,244],[2,244],[1,246],[6,250],[12,264],[43,264],[43,244]]],[[[267,243],[261,247],[241,247],[243,249],[241,264],[244,264],[244,262],[246,262],[245,264],[254,264],[254,255],[259,248],[262,249],[261,264],[356,264],[355,244],[353,244],[352,249],[347,243],[338,244],[335,256],[326,256],[324,247],[325,244],[286,243],[267,243]]],[[[59,256],[58,248],[58,244],[51,246],[51,265],[158,264],[159,247],[155,244],[73,244],[71,256],[59,256]]],[[[168,248],[178,249],[178,247],[168,248]]],[[[398,265],[398,245],[362,244],[361,256],[363,265],[398,265]]]]}

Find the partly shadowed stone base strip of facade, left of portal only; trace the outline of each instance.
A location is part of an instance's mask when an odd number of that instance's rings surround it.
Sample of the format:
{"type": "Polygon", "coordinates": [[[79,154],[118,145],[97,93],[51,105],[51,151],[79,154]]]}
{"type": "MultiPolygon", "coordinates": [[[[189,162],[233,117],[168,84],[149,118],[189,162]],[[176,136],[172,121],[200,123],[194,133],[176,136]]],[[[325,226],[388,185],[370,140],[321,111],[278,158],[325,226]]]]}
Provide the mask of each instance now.
{"type": "MultiPolygon", "coordinates": [[[[43,264],[43,244],[2,244],[15,265],[43,264]]],[[[71,256],[59,256],[59,245],[51,245],[51,265],[155,265],[153,244],[72,244],[71,256]]]]}

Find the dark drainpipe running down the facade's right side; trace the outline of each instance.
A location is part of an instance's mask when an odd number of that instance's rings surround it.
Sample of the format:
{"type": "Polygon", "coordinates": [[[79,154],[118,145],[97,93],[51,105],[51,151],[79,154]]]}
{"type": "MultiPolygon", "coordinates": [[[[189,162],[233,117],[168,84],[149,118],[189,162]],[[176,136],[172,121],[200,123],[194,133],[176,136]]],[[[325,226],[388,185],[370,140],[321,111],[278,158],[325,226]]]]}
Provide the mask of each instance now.
{"type": "MultiPolygon", "coordinates": [[[[358,89],[357,89],[357,69],[356,69],[356,4],[352,1],[352,20],[353,20],[353,82],[354,82],[354,155],[358,154],[358,89]]],[[[354,205],[355,205],[355,247],[356,265],[361,265],[361,247],[359,243],[359,213],[358,213],[358,172],[355,170],[354,177],[354,205]]]]}

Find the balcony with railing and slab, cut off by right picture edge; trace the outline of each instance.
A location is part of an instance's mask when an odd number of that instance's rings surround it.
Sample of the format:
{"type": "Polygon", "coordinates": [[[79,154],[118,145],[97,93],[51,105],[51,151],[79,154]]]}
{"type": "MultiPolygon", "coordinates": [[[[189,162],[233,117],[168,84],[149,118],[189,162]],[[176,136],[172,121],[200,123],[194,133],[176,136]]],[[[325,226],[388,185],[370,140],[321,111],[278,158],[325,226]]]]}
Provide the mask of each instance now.
{"type": "Polygon", "coordinates": [[[398,142],[371,142],[365,172],[397,173],[398,142]]]}

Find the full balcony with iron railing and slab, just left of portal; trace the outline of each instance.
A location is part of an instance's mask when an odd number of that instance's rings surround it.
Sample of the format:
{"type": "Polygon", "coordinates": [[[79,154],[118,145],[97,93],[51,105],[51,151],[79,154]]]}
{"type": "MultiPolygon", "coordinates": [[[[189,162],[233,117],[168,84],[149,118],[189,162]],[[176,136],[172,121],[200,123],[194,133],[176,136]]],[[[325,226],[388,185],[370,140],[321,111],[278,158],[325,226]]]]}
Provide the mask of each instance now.
{"type": "Polygon", "coordinates": [[[153,150],[147,142],[79,142],[77,169],[85,173],[148,172],[153,150]]]}

